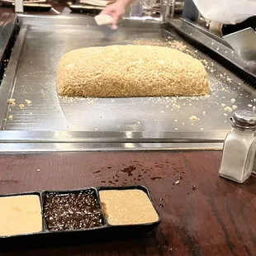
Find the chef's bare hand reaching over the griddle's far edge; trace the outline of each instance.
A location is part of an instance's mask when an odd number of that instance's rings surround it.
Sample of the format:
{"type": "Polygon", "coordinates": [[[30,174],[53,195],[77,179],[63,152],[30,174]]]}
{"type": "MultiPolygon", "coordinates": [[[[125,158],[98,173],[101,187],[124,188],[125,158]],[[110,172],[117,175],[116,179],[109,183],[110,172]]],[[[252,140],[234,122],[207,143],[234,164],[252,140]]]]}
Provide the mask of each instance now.
{"type": "Polygon", "coordinates": [[[133,0],[117,0],[106,7],[100,14],[110,15],[113,18],[111,28],[116,30],[118,21],[121,20],[121,17],[126,11],[126,7],[130,5],[131,2],[133,2],[133,0]]]}

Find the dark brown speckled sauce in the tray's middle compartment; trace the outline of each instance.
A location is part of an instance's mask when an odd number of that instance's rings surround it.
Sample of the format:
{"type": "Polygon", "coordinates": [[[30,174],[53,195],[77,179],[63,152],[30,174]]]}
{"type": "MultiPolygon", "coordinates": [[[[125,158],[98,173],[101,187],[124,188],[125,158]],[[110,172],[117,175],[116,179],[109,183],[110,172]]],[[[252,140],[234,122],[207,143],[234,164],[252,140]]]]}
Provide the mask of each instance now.
{"type": "Polygon", "coordinates": [[[78,230],[103,225],[102,210],[92,192],[46,194],[44,216],[48,230],[78,230]]]}

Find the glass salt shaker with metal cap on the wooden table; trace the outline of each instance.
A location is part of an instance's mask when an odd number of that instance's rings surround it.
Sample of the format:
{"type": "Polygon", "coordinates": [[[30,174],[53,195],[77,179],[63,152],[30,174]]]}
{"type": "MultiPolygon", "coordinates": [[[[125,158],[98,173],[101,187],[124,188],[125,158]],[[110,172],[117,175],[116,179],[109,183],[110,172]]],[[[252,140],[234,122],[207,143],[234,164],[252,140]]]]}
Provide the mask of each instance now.
{"type": "Polygon", "coordinates": [[[244,183],[252,173],[256,144],[256,113],[235,111],[230,118],[232,130],[223,145],[219,174],[237,183],[244,183]]]}

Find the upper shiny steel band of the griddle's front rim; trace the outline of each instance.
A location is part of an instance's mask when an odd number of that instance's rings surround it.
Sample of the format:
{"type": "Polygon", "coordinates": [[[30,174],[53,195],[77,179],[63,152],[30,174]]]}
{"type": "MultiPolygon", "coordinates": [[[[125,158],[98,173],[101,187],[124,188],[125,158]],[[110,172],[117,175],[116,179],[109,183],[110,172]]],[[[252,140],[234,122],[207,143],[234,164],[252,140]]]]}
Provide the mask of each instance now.
{"type": "MultiPolygon", "coordinates": [[[[229,131],[229,130],[228,130],[229,131]]],[[[138,132],[138,131],[31,131],[31,130],[2,130],[0,143],[222,143],[228,131],[211,132],[138,132]],[[128,135],[128,136],[127,136],[128,135]]]]}

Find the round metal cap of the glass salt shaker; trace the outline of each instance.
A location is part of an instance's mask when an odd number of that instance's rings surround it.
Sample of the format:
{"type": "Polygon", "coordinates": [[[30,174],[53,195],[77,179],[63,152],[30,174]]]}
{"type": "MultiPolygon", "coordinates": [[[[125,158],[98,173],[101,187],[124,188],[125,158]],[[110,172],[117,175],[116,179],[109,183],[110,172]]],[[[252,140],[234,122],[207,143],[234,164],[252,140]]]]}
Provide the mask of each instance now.
{"type": "Polygon", "coordinates": [[[256,113],[254,111],[235,111],[230,118],[232,126],[239,130],[256,130],[256,113]]]}

